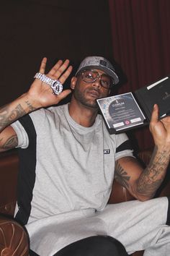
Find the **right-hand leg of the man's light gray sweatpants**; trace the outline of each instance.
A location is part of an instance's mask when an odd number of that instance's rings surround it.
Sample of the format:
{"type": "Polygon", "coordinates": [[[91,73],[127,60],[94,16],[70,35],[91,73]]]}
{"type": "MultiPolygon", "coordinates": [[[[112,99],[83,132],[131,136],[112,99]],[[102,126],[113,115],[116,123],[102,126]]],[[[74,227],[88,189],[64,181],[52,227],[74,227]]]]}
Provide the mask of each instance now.
{"type": "Polygon", "coordinates": [[[169,256],[168,207],[166,197],[135,200],[108,205],[98,216],[106,223],[107,234],[122,242],[128,254],[145,249],[145,256],[169,256]]]}

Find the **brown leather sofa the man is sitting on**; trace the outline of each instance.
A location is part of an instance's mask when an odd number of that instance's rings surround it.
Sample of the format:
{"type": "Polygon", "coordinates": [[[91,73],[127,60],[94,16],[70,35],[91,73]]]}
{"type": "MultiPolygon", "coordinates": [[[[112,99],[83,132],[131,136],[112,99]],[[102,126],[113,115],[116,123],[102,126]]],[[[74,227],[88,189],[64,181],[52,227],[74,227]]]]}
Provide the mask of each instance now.
{"type": "MultiPolygon", "coordinates": [[[[138,154],[144,163],[151,158],[151,150],[145,150],[138,154]]],[[[19,225],[14,216],[16,202],[17,174],[19,158],[16,150],[0,155],[0,255],[1,256],[26,256],[29,255],[29,239],[27,231],[19,225]]],[[[164,182],[158,195],[170,195],[169,181],[164,182]]],[[[109,198],[109,203],[134,200],[128,191],[117,182],[109,198]]],[[[135,252],[133,256],[143,255],[143,252],[135,252]]]]}

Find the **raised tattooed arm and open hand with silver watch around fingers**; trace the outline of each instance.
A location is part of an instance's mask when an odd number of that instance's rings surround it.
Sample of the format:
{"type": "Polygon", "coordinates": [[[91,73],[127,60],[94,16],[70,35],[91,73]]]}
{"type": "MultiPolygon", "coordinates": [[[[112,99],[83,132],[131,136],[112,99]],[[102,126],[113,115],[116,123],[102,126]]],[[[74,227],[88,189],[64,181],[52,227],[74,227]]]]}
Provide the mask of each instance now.
{"type": "MultiPolygon", "coordinates": [[[[40,65],[39,72],[42,74],[45,73],[46,61],[47,59],[43,58],[40,65]]],[[[47,76],[54,80],[59,80],[61,83],[65,82],[72,70],[72,67],[68,67],[68,65],[68,59],[66,61],[59,60],[50,69],[47,76]]],[[[12,103],[1,107],[0,152],[17,146],[17,135],[10,124],[31,111],[59,103],[69,93],[71,93],[71,90],[64,90],[60,95],[54,95],[49,85],[35,79],[27,93],[24,93],[12,103]]]]}

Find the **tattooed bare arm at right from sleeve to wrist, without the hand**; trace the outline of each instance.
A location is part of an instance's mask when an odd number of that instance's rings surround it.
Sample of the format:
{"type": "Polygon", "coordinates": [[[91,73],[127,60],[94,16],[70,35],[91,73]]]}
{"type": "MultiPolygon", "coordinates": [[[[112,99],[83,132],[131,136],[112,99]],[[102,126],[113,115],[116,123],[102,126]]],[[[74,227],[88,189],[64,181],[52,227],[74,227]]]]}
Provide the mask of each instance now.
{"type": "Polygon", "coordinates": [[[141,201],[148,200],[163,182],[168,163],[169,158],[158,148],[153,150],[151,161],[144,170],[135,158],[120,158],[115,165],[115,179],[133,197],[141,201]]]}

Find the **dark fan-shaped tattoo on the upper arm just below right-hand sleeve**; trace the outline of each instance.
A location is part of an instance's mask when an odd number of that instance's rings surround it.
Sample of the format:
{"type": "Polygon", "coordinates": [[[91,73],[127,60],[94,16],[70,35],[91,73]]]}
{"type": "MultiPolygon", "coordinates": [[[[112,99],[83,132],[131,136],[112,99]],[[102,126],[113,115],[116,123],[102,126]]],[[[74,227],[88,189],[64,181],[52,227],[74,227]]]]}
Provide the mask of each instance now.
{"type": "Polygon", "coordinates": [[[128,176],[127,172],[120,166],[120,163],[116,161],[115,164],[115,179],[119,182],[123,187],[129,187],[130,176],[128,176]]]}

